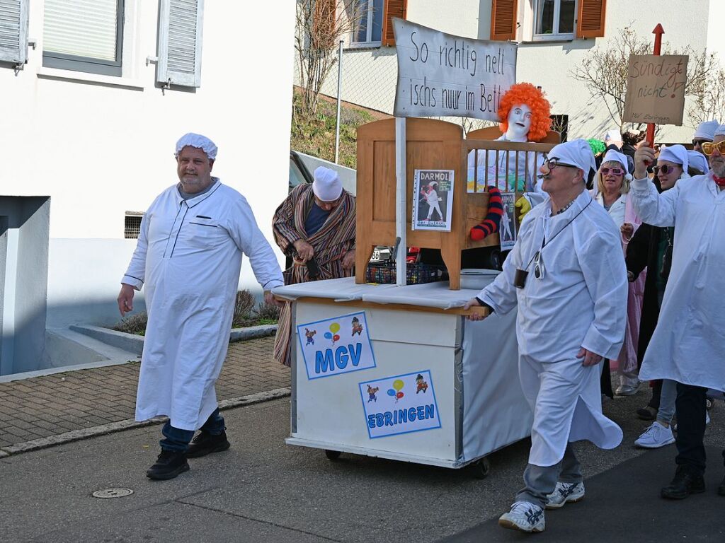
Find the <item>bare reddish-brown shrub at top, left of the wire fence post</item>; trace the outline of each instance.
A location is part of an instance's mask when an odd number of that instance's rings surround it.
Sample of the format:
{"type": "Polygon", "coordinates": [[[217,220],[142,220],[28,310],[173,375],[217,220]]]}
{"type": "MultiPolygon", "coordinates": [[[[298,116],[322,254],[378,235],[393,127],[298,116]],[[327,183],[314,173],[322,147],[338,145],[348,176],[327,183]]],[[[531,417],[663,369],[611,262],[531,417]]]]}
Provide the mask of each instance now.
{"type": "Polygon", "coordinates": [[[315,114],[320,90],[337,62],[339,41],[357,28],[363,13],[353,0],[297,0],[294,50],[302,84],[300,113],[315,114]]]}

